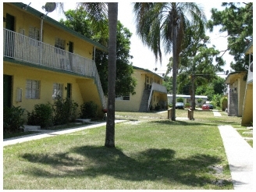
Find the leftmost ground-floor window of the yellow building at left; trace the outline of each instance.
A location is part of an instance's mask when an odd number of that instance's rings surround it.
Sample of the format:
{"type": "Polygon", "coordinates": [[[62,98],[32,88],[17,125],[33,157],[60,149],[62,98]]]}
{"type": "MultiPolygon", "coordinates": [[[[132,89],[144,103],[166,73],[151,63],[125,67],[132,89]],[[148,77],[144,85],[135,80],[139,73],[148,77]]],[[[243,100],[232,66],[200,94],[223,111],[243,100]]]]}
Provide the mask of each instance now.
{"type": "Polygon", "coordinates": [[[26,98],[38,99],[40,94],[40,81],[27,80],[26,84],[26,98]]]}

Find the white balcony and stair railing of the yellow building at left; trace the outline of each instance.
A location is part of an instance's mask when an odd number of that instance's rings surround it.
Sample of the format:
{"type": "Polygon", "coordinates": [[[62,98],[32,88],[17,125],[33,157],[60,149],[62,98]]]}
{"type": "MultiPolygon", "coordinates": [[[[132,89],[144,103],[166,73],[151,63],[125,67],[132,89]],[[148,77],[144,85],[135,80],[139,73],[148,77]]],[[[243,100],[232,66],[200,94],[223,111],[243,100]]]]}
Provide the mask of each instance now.
{"type": "Polygon", "coordinates": [[[30,37],[4,29],[3,56],[29,62],[35,66],[45,66],[49,69],[60,69],[94,78],[98,87],[101,103],[105,108],[105,96],[94,60],[55,48],[30,37]]]}

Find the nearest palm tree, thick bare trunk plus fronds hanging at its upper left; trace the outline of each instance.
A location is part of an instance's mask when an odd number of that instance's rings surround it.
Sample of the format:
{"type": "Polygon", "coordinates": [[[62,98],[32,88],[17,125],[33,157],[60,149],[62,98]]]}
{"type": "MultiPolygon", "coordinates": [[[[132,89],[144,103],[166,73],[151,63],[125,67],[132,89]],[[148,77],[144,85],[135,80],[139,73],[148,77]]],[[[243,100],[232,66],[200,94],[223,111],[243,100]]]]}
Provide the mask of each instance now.
{"type": "Polygon", "coordinates": [[[102,30],[108,18],[108,118],[106,124],[105,147],[115,148],[115,87],[116,87],[116,30],[117,2],[80,2],[94,27],[102,30]],[[107,11],[108,10],[108,11],[107,11]]]}

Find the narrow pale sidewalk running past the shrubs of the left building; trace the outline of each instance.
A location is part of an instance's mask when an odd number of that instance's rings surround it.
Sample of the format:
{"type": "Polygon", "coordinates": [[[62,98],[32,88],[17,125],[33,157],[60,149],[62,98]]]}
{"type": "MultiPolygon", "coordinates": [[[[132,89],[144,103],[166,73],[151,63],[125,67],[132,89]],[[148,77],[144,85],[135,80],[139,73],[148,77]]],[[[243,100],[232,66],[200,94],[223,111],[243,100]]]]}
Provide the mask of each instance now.
{"type": "MultiPolygon", "coordinates": [[[[126,120],[116,120],[115,123],[120,123],[126,120]]],[[[38,133],[34,133],[34,134],[30,134],[30,135],[25,135],[22,137],[12,137],[9,139],[4,139],[3,141],[3,146],[6,145],[10,145],[10,144],[18,144],[18,143],[23,143],[26,142],[28,140],[38,140],[44,137],[52,137],[52,136],[56,136],[56,135],[62,135],[62,134],[66,134],[66,133],[73,133],[75,131],[79,131],[79,130],[87,130],[87,129],[92,129],[98,126],[105,126],[106,123],[94,123],[90,126],[82,126],[82,127],[78,127],[78,128],[73,128],[73,129],[65,129],[65,130],[40,130],[40,132],[38,133]]]]}

